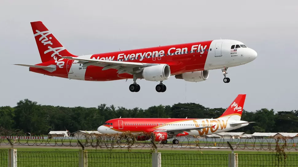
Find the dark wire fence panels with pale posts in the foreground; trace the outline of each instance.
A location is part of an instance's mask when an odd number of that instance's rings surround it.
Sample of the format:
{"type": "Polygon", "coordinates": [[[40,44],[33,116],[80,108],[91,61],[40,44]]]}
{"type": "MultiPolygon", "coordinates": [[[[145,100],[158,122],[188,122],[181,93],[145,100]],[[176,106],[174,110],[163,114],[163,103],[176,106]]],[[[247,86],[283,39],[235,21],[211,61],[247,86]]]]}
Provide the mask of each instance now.
{"type": "MultiPolygon", "coordinates": [[[[17,151],[1,150],[7,157],[1,166],[60,166],[60,167],[246,167],[246,166],[298,166],[298,154],[177,154],[151,152],[79,151],[17,151]],[[5,154],[6,151],[6,154],[5,154]],[[12,154],[11,154],[12,153],[12,154]],[[9,155],[9,156],[8,156],[9,155]],[[10,159],[12,158],[12,159],[10,159]],[[11,162],[12,164],[8,164],[11,162]]],[[[3,156],[1,156],[2,158],[3,156]]],[[[5,158],[4,158],[5,159],[5,158]]]]}

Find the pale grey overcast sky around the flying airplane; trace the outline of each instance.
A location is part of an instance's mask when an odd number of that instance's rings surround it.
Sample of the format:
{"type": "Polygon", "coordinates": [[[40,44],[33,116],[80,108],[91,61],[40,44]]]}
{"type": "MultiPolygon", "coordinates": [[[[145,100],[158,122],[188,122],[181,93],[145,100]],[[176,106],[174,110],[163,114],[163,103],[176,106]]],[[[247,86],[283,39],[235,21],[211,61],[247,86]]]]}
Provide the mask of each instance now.
{"type": "MultiPolygon", "coordinates": [[[[0,5],[0,106],[16,106],[28,98],[43,105],[139,107],[197,102],[226,108],[247,94],[244,109],[298,109],[298,1],[8,1],[0,5]],[[91,82],[29,72],[12,64],[41,62],[30,22],[42,21],[75,55],[197,42],[235,39],[257,51],[254,61],[220,69],[208,80],[191,83],[170,79],[167,91],[158,82],[132,80],[91,82]]],[[[102,72],[102,71],[99,71],[102,72]]],[[[191,117],[191,116],[190,116],[191,117]]]]}

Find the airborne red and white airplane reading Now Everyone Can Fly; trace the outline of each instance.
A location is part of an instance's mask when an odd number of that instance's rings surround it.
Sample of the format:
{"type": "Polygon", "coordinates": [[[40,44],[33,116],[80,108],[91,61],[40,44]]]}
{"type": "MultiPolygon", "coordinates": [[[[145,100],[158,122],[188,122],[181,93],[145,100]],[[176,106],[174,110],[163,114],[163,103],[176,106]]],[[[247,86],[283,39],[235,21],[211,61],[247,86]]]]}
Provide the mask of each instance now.
{"type": "Polygon", "coordinates": [[[112,81],[133,79],[131,92],[140,91],[137,79],[160,81],[157,92],[166,91],[170,76],[188,82],[207,80],[209,70],[221,69],[223,81],[230,67],[257,58],[257,52],[236,40],[219,39],[168,46],[76,56],[69,53],[41,21],[31,22],[42,63],[15,64],[29,71],[73,80],[112,81]]]}

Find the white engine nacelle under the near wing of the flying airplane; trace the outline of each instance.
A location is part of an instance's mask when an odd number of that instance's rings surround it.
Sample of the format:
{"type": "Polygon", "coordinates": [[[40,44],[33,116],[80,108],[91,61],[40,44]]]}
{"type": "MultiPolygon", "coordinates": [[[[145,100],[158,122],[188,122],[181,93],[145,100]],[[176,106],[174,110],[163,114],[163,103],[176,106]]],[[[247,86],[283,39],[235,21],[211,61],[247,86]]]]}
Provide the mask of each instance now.
{"type": "Polygon", "coordinates": [[[148,81],[167,80],[171,75],[170,66],[167,64],[153,65],[145,67],[142,72],[136,73],[137,78],[148,81]]]}

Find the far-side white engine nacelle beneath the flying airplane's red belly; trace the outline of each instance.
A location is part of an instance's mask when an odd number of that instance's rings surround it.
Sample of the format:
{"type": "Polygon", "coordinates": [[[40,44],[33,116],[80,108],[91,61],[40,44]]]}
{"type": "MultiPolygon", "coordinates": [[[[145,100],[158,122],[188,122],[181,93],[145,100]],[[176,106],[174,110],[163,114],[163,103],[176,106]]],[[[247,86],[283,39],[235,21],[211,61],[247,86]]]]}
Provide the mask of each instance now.
{"type": "Polygon", "coordinates": [[[176,79],[183,79],[188,82],[200,82],[207,80],[209,77],[209,71],[194,71],[194,72],[185,72],[179,75],[175,75],[176,79]]]}

